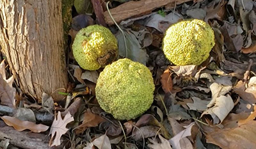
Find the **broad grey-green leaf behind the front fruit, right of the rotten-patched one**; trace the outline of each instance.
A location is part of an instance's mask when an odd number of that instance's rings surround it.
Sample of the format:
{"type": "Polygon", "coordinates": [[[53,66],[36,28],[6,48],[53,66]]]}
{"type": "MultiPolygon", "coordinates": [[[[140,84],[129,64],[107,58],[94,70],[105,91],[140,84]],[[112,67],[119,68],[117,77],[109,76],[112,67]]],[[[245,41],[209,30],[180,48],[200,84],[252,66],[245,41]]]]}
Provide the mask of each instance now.
{"type": "Polygon", "coordinates": [[[125,41],[127,47],[125,48],[124,36],[118,31],[116,38],[118,40],[118,51],[119,55],[125,58],[129,58],[132,61],[138,61],[143,65],[146,65],[148,61],[147,52],[141,49],[141,45],[135,35],[128,29],[123,29],[125,35],[125,41]]]}

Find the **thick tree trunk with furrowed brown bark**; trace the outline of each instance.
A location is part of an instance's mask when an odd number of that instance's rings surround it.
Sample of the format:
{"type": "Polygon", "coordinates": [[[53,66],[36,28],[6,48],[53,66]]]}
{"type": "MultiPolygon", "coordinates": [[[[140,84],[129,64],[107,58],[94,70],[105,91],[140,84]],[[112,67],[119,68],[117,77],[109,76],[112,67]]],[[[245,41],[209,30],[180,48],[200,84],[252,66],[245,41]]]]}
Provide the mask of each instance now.
{"type": "Polygon", "coordinates": [[[23,93],[67,88],[61,1],[0,0],[0,46],[23,93]]]}

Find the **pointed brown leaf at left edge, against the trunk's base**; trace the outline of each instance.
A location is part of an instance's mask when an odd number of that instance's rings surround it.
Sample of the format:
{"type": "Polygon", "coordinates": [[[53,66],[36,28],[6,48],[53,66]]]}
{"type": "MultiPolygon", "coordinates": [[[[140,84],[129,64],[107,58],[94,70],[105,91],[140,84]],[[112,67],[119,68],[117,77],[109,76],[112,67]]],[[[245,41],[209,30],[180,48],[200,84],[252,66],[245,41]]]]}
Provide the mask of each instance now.
{"type": "Polygon", "coordinates": [[[15,95],[16,89],[13,88],[12,84],[14,81],[14,77],[10,77],[6,79],[5,75],[5,64],[4,60],[0,63],[0,98],[1,104],[9,107],[16,107],[15,104],[15,95]]]}

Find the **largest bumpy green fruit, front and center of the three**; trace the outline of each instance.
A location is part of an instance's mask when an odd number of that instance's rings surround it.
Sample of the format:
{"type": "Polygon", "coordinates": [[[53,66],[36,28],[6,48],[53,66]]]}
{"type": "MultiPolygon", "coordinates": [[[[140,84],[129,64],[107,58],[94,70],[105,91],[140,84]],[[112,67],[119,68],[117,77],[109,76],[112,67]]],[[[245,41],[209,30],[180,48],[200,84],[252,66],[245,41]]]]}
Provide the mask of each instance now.
{"type": "Polygon", "coordinates": [[[131,120],[150,108],[154,90],[150,70],[125,58],[104,68],[97,80],[95,93],[104,111],[118,120],[131,120]]]}

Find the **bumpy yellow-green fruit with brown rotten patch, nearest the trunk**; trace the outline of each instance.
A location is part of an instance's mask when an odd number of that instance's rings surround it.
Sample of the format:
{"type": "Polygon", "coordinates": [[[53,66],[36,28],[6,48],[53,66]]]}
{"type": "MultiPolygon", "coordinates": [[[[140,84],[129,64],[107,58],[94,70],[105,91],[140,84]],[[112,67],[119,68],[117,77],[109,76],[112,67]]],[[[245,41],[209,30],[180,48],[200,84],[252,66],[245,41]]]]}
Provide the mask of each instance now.
{"type": "Polygon", "coordinates": [[[79,66],[86,70],[97,70],[117,58],[118,46],[111,31],[99,25],[81,29],[72,45],[73,55],[79,66]]]}

